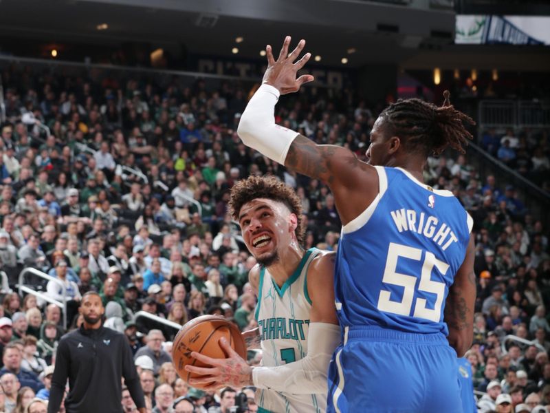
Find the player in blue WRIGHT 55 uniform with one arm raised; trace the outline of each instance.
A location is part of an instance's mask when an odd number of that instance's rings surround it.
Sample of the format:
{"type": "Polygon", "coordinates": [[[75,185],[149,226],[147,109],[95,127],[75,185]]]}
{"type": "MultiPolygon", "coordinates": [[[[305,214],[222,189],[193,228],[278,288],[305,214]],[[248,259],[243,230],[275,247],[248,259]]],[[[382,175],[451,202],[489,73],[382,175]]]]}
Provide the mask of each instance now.
{"type": "MultiPolygon", "coordinates": [[[[268,67],[241,116],[241,140],[329,185],[342,220],[335,296],[342,346],[329,368],[328,412],[461,412],[457,355],[472,343],[476,295],[472,218],[449,191],[423,183],[428,156],[463,151],[473,121],[450,106],[399,100],[380,114],[360,162],[343,147],[314,142],[274,122],[280,94],[309,57],[268,67]],[[296,63],[294,63],[296,61],[296,63]]],[[[445,97],[448,100],[448,96],[445,97]]]]}

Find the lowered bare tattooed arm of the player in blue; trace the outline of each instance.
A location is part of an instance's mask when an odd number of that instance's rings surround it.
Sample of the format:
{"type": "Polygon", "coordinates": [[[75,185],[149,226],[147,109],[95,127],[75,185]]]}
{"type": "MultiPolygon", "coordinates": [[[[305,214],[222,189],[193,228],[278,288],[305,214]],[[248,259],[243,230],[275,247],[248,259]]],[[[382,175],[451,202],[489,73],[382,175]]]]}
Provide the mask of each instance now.
{"type": "Polygon", "coordinates": [[[449,344],[459,357],[472,346],[474,338],[474,305],[476,301],[476,275],[474,273],[474,237],[470,236],[466,257],[445,302],[444,320],[449,328],[449,344]]]}

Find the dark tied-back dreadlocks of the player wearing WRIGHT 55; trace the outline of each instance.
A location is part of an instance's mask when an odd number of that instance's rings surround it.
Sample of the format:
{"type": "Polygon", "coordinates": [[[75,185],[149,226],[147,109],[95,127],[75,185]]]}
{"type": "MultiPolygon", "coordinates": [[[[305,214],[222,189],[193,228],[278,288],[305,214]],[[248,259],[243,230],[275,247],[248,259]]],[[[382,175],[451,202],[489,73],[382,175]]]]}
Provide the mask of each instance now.
{"type": "Polygon", "coordinates": [[[406,149],[421,151],[426,156],[439,155],[448,146],[465,153],[463,145],[472,139],[472,134],[463,123],[475,125],[475,122],[454,109],[448,90],[443,96],[445,102],[441,107],[416,98],[399,99],[386,107],[380,116],[384,117],[389,136],[399,136],[406,149]]]}

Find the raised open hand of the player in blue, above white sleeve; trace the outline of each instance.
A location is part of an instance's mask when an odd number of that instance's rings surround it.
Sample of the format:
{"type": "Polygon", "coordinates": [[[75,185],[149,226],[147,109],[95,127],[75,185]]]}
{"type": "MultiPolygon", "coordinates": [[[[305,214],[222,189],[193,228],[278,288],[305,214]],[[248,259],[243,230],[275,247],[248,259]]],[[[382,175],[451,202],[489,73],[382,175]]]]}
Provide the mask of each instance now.
{"type": "Polygon", "coordinates": [[[263,75],[263,83],[276,87],[281,94],[298,92],[300,86],[304,83],[314,81],[314,76],[311,76],[311,74],[304,74],[299,78],[296,78],[296,72],[304,67],[311,57],[311,53],[306,53],[302,59],[294,63],[305,46],[305,40],[300,40],[296,46],[296,49],[294,49],[291,54],[288,53],[289,45],[290,36],[287,36],[277,60],[273,57],[271,46],[267,45],[265,47],[265,53],[267,55],[267,70],[263,75]]]}

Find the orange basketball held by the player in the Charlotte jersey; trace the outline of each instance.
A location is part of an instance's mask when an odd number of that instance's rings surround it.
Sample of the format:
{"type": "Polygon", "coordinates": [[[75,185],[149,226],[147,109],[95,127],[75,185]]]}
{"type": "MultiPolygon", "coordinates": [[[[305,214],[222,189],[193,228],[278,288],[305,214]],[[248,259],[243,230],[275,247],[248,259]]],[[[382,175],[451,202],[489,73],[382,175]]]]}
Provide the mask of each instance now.
{"type": "MultiPolygon", "coordinates": [[[[233,350],[246,360],[246,346],[239,328],[219,315],[202,315],[188,321],[177,333],[173,347],[172,360],[181,379],[189,381],[199,374],[185,370],[190,364],[197,367],[208,367],[191,357],[191,352],[199,352],[212,359],[225,359],[227,354],[219,346],[219,339],[225,337],[233,350]]],[[[200,386],[195,386],[200,387],[200,386]]]]}

